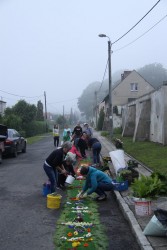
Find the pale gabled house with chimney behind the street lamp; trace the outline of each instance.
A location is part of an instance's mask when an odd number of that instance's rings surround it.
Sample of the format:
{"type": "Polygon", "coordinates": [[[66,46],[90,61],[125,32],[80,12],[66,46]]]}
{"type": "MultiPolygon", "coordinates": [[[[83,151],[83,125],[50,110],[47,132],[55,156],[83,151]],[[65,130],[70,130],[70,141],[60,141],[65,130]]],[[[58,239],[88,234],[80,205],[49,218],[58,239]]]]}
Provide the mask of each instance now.
{"type": "MultiPolygon", "coordinates": [[[[112,87],[112,107],[114,108],[117,106],[117,113],[121,114],[121,106],[134,101],[153,90],[154,87],[136,70],[124,71],[123,74],[121,74],[121,80],[112,87]]],[[[99,114],[101,107],[103,107],[106,114],[103,129],[108,130],[111,118],[111,114],[109,114],[109,95],[107,95],[99,104],[97,114],[99,114]]],[[[115,112],[113,113],[113,127],[118,127],[121,125],[121,118],[119,118],[118,121],[118,117],[116,117],[115,112]]]]}

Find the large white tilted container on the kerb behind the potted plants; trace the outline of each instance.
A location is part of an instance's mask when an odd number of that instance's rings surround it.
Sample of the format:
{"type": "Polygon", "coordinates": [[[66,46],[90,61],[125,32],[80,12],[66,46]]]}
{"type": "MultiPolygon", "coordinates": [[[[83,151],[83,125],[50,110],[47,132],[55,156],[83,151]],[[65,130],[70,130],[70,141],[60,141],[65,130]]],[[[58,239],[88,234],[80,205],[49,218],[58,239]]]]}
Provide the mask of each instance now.
{"type": "Polygon", "coordinates": [[[111,157],[116,174],[120,168],[126,167],[124,151],[122,149],[111,151],[109,152],[109,155],[111,157]]]}

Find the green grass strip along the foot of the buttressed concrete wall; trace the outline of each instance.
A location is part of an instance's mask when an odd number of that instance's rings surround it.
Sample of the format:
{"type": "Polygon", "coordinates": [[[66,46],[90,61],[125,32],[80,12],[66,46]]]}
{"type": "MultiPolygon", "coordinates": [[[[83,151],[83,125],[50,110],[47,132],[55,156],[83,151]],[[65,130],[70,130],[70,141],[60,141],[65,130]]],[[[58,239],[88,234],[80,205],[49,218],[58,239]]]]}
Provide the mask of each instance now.
{"type": "Polygon", "coordinates": [[[114,134],[123,141],[125,152],[153,171],[167,174],[167,147],[153,142],[133,142],[131,137],[114,134]]]}

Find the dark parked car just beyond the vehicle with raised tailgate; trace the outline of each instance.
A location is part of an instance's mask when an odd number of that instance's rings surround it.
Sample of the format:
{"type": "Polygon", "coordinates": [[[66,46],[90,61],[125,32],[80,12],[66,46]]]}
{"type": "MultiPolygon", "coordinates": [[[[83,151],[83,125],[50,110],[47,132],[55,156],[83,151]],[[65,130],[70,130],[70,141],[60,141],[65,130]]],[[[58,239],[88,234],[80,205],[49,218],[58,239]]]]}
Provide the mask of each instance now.
{"type": "Polygon", "coordinates": [[[4,155],[11,155],[17,157],[18,152],[25,153],[27,147],[27,140],[20,135],[15,129],[8,128],[8,137],[4,142],[4,155]]]}

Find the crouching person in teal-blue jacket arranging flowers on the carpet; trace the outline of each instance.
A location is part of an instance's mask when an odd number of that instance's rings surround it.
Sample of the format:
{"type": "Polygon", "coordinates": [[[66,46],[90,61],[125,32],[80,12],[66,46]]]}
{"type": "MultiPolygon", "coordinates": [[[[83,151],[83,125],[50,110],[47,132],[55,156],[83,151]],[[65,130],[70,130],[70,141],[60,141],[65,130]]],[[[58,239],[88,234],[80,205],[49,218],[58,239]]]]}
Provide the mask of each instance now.
{"type": "Polygon", "coordinates": [[[86,177],[82,191],[77,195],[77,198],[85,198],[93,192],[98,194],[97,201],[102,201],[107,198],[105,191],[113,189],[112,179],[104,172],[94,167],[81,167],[80,174],[86,177]]]}

